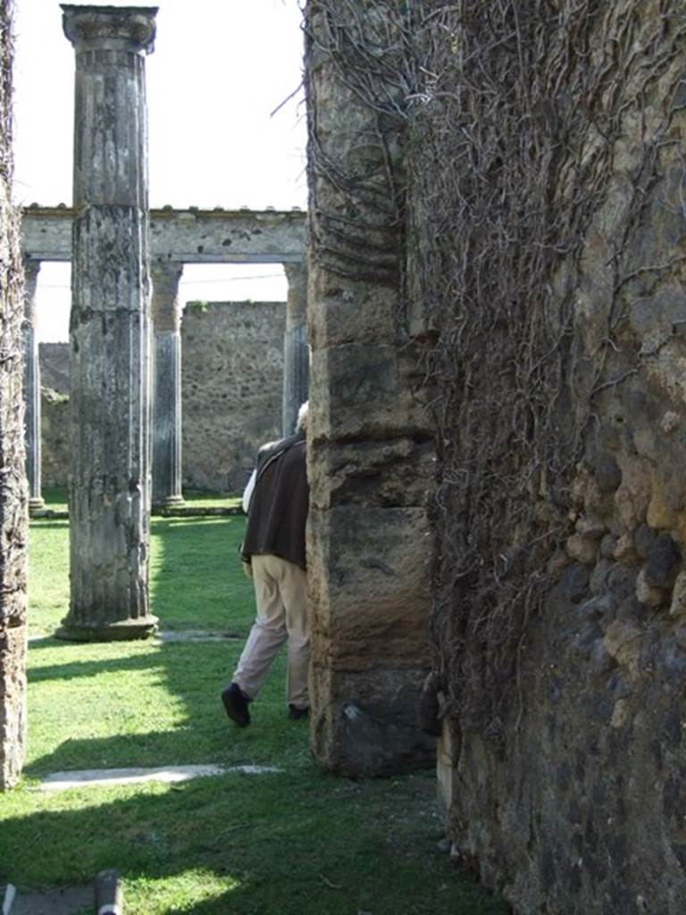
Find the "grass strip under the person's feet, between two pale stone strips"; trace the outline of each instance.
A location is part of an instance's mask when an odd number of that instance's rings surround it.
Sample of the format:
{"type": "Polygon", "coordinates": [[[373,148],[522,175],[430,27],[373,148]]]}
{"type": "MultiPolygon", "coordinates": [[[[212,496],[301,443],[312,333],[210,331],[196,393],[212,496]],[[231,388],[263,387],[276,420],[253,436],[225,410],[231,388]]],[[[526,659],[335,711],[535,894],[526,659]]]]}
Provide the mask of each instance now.
{"type": "Polygon", "coordinates": [[[306,723],[294,731],[286,718],[284,658],[253,707],[256,727],[241,730],[227,719],[220,691],[240,650],[230,641],[174,643],[129,657],[31,666],[29,720],[47,752],[27,763],[25,773],[279,765],[286,756],[305,757],[306,723]]]}

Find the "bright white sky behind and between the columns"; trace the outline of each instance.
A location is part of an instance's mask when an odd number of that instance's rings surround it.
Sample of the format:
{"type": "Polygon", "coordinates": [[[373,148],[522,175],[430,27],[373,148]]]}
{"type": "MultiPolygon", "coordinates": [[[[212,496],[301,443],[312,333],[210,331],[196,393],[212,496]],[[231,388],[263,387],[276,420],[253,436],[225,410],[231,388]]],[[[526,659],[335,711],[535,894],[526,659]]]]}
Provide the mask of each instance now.
{"type": "MultiPolygon", "coordinates": [[[[305,209],[302,89],[272,114],[302,79],[298,0],[156,5],[146,59],[151,206],[305,209]]],[[[15,33],[15,197],[70,203],[74,50],[58,0],[16,0],[15,33]]],[[[38,339],[68,339],[69,284],[66,264],[43,264],[38,339]]],[[[180,293],[183,301],[278,300],[285,280],[270,264],[195,264],[180,293]]]]}

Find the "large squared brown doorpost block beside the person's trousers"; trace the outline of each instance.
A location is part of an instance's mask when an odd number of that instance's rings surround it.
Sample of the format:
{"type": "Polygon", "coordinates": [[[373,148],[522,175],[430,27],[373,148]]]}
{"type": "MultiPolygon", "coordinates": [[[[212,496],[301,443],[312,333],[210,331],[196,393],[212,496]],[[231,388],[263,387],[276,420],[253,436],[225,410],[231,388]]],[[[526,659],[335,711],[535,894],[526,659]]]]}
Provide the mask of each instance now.
{"type": "Polygon", "coordinates": [[[425,671],[432,540],[426,512],[311,508],[307,538],[315,671],[425,671]]]}

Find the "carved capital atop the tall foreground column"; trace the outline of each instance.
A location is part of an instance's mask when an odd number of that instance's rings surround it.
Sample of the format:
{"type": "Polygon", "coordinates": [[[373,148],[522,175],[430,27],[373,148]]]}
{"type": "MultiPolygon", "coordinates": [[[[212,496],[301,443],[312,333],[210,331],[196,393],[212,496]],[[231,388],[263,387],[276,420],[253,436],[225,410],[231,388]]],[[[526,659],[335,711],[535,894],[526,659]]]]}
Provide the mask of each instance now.
{"type": "Polygon", "coordinates": [[[60,7],[64,34],[77,51],[117,48],[151,54],[155,48],[157,6],[60,7]]]}

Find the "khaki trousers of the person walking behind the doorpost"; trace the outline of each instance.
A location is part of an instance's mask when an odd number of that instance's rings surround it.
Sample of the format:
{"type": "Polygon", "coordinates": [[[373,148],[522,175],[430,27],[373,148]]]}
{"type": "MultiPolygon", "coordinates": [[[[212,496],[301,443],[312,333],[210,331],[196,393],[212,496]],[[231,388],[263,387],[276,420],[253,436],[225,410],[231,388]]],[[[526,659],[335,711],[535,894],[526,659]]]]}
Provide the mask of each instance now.
{"type": "Polygon", "coordinates": [[[307,574],[280,556],[252,556],[257,619],[241,653],[233,682],[251,699],[258,694],[276,653],[288,642],[286,701],[309,706],[310,639],[307,574]]]}

